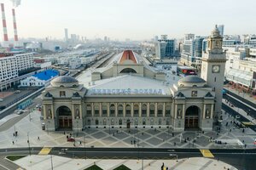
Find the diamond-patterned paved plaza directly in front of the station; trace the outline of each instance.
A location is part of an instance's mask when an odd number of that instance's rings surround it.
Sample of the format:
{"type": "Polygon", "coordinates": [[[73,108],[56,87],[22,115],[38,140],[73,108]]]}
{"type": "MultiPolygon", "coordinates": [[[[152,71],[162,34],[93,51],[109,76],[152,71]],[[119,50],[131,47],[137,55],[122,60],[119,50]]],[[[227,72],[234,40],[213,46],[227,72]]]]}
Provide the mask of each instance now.
{"type": "MultiPolygon", "coordinates": [[[[236,109],[236,108],[234,108],[236,109]]],[[[32,110],[31,110],[32,111],[32,110]]],[[[13,118],[17,119],[17,115],[10,115],[2,120],[0,127],[7,126],[13,118]],[[5,122],[4,122],[5,121],[5,122]]],[[[27,139],[29,139],[31,147],[54,147],[64,146],[84,147],[84,139],[86,147],[149,147],[149,148],[242,148],[243,144],[247,144],[247,148],[254,148],[254,139],[256,133],[250,128],[246,128],[244,133],[242,129],[237,128],[230,123],[235,118],[229,114],[223,113],[224,122],[220,132],[201,132],[201,131],[185,131],[181,133],[172,133],[168,128],[87,128],[82,132],[76,131],[56,131],[47,132],[42,130],[40,112],[33,111],[30,116],[24,116],[16,124],[9,125],[8,130],[0,132],[0,148],[27,147],[27,139]],[[228,126],[226,122],[229,123],[228,126]],[[18,136],[15,137],[15,131],[18,136]],[[231,131],[231,132],[230,132],[231,131]],[[72,135],[76,142],[67,142],[67,135],[72,135]],[[39,137],[39,138],[38,138],[39,137]],[[215,144],[210,141],[211,138],[222,141],[240,141],[240,144],[215,144]],[[186,142],[184,141],[186,139],[186,142]],[[195,141],[195,142],[193,142],[195,141]]],[[[228,142],[229,143],[229,142],[228,142]]]]}

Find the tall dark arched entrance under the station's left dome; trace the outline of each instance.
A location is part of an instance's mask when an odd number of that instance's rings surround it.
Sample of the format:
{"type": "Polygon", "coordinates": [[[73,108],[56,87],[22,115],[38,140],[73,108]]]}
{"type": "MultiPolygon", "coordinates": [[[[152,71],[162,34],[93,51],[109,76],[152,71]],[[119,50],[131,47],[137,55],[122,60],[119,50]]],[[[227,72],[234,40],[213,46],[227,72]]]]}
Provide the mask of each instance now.
{"type": "Polygon", "coordinates": [[[56,111],[57,117],[59,120],[59,128],[60,129],[72,129],[72,112],[71,110],[65,106],[62,105],[59,107],[56,111]]]}

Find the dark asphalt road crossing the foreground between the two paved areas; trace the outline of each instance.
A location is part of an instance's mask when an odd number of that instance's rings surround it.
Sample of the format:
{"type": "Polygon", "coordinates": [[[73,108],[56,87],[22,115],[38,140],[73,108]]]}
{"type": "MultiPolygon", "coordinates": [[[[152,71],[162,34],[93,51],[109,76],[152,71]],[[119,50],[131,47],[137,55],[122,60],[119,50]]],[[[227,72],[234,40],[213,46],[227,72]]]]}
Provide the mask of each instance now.
{"type": "MultiPolygon", "coordinates": [[[[38,154],[42,148],[31,148],[32,154],[38,154]]],[[[211,150],[214,159],[224,161],[237,169],[254,170],[256,167],[256,150],[230,149],[211,150]]],[[[28,155],[28,148],[1,149],[1,156],[28,155]]],[[[64,148],[55,147],[50,151],[51,155],[65,156],[69,158],[92,159],[178,159],[187,157],[201,157],[199,149],[157,149],[157,148],[64,148]],[[63,152],[63,149],[66,150],[63,152]],[[85,150],[85,152],[84,152],[85,150]],[[171,155],[171,156],[170,156],[171,155]]],[[[2,161],[0,161],[2,164],[2,161]]],[[[3,164],[2,164],[3,165],[3,164]]],[[[5,164],[4,164],[5,165],[5,164]]],[[[0,168],[1,169],[1,168],[0,168]]]]}

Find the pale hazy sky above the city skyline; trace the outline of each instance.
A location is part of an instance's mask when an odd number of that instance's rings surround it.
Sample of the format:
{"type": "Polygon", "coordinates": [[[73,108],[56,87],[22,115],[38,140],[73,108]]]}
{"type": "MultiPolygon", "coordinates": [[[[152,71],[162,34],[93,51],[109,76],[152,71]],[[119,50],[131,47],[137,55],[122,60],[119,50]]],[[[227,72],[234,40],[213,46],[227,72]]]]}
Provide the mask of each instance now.
{"type": "MultiPolygon", "coordinates": [[[[13,37],[11,3],[1,2],[13,37]]],[[[67,27],[88,38],[180,38],[207,36],[215,24],[224,24],[224,34],[242,35],[256,33],[255,7],[253,0],[21,0],[16,20],[19,37],[63,38],[67,27]]]]}

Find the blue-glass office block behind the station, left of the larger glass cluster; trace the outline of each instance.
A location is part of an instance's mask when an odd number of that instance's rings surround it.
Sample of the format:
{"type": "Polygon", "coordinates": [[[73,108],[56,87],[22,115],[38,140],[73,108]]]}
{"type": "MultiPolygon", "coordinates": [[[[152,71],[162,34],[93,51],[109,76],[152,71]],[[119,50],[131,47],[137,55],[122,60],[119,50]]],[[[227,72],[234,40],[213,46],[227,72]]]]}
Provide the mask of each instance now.
{"type": "Polygon", "coordinates": [[[168,39],[167,35],[161,35],[161,39],[155,43],[155,54],[160,59],[174,57],[175,39],[168,39]]]}

